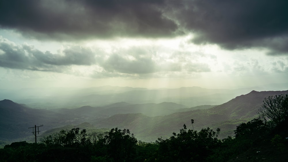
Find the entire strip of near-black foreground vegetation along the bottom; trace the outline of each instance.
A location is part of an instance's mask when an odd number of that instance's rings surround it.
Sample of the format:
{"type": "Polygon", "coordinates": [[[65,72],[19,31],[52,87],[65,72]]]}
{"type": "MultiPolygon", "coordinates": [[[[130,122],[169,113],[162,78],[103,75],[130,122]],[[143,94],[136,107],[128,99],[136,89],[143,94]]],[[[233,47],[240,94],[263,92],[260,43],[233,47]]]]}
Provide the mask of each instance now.
{"type": "MultiPolygon", "coordinates": [[[[271,97],[269,102],[287,100],[271,97]]],[[[280,110],[286,106],[277,105],[280,110]]],[[[193,119],[192,129],[184,124],[179,133],[148,143],[138,141],[128,129],[90,133],[86,129],[62,129],[45,136],[39,144],[24,141],[6,145],[0,149],[0,161],[288,161],[288,117],[280,113],[279,121],[268,116],[276,115],[273,113],[259,111],[259,118],[240,123],[235,136],[223,140],[218,138],[220,129],[194,130],[193,119]]]]}

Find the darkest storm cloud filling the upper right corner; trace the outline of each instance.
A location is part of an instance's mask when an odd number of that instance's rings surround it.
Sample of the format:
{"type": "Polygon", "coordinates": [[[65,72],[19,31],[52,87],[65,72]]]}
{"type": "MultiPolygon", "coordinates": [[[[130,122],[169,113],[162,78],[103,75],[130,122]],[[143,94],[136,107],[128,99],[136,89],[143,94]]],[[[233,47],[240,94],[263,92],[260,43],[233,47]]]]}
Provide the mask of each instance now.
{"type": "Polygon", "coordinates": [[[183,1],[170,14],[194,43],[215,43],[226,49],[267,47],[269,54],[287,54],[288,1],[183,1]],[[176,13],[176,14],[175,14],[176,13]]]}

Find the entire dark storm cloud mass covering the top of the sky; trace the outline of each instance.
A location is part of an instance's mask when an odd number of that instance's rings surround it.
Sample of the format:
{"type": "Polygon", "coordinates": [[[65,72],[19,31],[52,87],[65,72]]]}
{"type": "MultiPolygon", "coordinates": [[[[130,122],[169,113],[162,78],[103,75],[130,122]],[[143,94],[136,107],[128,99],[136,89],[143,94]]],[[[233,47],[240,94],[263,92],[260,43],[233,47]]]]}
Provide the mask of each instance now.
{"type": "Polygon", "coordinates": [[[0,26],[35,39],[175,37],[225,49],[288,53],[288,1],[1,1],[0,26]]]}

